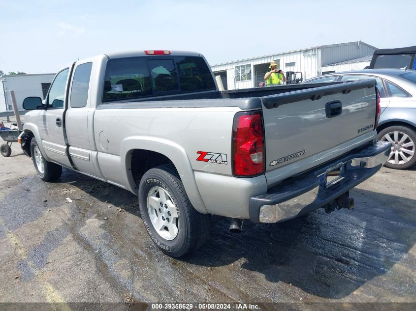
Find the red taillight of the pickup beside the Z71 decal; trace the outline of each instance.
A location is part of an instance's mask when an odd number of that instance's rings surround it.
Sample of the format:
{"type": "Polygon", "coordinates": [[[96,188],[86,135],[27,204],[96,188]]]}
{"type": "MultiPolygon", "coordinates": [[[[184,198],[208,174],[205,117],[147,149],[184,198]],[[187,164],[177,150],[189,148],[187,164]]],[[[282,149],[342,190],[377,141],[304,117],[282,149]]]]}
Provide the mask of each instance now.
{"type": "Polygon", "coordinates": [[[232,129],[232,173],[256,176],[265,171],[264,130],[261,112],[241,112],[234,116],[232,129]]]}

